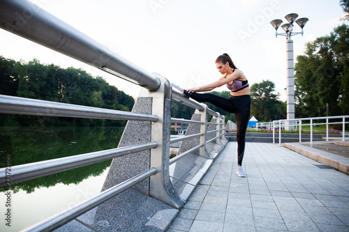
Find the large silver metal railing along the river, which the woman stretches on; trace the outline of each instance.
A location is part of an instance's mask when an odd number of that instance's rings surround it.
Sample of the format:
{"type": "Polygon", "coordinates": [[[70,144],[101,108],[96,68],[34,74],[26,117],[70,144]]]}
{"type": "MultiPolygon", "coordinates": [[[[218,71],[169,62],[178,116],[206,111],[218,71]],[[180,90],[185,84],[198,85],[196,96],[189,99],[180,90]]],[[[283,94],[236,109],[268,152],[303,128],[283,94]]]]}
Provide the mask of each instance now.
{"type": "MultiPolygon", "coordinates": [[[[101,150],[94,153],[82,155],[73,155],[54,160],[43,162],[34,162],[30,164],[17,165],[11,167],[11,183],[19,183],[24,180],[47,176],[52,173],[75,169],[89,164],[110,160],[114,157],[128,155],[142,150],[151,149],[150,168],[138,176],[134,176],[123,183],[105,190],[89,199],[80,203],[78,206],[71,208],[59,215],[54,215],[43,222],[40,222],[26,231],[52,231],[59,226],[66,224],[75,217],[82,215],[91,208],[107,201],[127,190],[136,183],[149,178],[149,195],[154,198],[168,203],[170,206],[179,208],[180,202],[176,202],[170,191],[164,190],[163,172],[168,171],[168,166],[177,162],[194,150],[200,149],[200,155],[212,159],[206,153],[206,145],[211,141],[223,144],[224,138],[224,116],[208,109],[206,105],[200,104],[195,100],[188,99],[186,95],[177,90],[173,90],[170,82],[165,78],[150,74],[139,68],[137,65],[126,61],[118,54],[114,54],[100,43],[83,35],[77,29],[62,22],[57,17],[50,15],[43,9],[38,8],[29,1],[24,0],[1,0],[0,1],[0,27],[19,36],[32,40],[54,49],[57,52],[71,56],[74,59],[88,63],[96,68],[109,72],[112,75],[138,84],[147,89],[141,90],[142,95],[153,98],[152,107],[155,114],[137,114],[134,112],[117,111],[112,109],[101,109],[96,107],[84,107],[81,105],[70,105],[59,102],[49,102],[43,100],[33,100],[27,98],[17,98],[8,95],[0,95],[0,113],[1,114],[23,114],[36,116],[64,116],[75,118],[99,118],[111,120],[129,120],[129,121],[149,121],[151,125],[151,142],[147,144],[138,144],[110,150],[101,150]],[[20,21],[21,14],[26,14],[27,20],[20,21]],[[195,114],[201,114],[201,121],[191,121],[182,118],[170,118],[169,102],[177,100],[184,105],[196,109],[195,114]],[[214,116],[216,122],[208,123],[207,114],[214,116]],[[170,139],[170,133],[158,133],[159,131],[170,130],[171,123],[189,123],[199,124],[200,133],[191,136],[170,139]],[[215,130],[207,131],[208,125],[214,125],[215,130]],[[207,134],[213,134],[213,138],[207,139],[207,134]],[[172,158],[167,163],[163,157],[170,155],[169,146],[176,141],[184,141],[200,137],[200,145],[186,150],[177,157],[172,158]],[[167,167],[164,169],[164,167],[167,167]]],[[[6,185],[6,169],[0,169],[0,186],[6,185]]],[[[172,192],[172,194],[177,194],[172,192]]]]}

